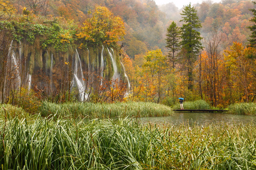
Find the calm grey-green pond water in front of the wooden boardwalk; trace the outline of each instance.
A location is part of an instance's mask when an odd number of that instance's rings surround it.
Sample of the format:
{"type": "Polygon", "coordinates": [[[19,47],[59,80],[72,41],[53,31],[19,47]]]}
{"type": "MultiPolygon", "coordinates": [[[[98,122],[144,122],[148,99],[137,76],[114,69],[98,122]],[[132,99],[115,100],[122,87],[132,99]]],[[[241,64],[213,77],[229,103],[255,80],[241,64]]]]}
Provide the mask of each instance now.
{"type": "Polygon", "coordinates": [[[254,124],[256,125],[256,116],[234,115],[227,113],[174,113],[167,117],[143,117],[138,118],[144,123],[156,124],[189,124],[189,125],[207,125],[207,124],[254,124]]]}

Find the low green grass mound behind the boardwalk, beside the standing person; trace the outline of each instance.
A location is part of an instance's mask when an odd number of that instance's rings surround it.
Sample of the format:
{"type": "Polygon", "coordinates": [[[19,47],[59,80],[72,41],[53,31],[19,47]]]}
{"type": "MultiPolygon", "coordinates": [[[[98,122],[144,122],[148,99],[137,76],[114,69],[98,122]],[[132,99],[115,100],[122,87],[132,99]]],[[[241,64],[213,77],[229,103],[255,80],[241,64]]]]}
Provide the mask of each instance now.
{"type": "MultiPolygon", "coordinates": [[[[183,103],[184,109],[210,109],[210,104],[204,100],[196,100],[196,101],[184,101],[183,103]]],[[[180,104],[174,105],[174,109],[180,109],[180,104]]]]}

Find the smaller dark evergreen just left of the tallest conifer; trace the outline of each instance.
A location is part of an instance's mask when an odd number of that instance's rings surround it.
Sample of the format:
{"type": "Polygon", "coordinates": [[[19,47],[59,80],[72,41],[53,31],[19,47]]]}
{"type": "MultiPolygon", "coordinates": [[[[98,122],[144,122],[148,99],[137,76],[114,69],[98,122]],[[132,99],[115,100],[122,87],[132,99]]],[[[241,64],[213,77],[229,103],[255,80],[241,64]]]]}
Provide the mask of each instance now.
{"type": "Polygon", "coordinates": [[[170,57],[170,61],[172,63],[172,68],[175,66],[176,61],[176,52],[179,49],[179,39],[180,39],[180,29],[177,27],[175,22],[167,28],[167,48],[170,49],[168,53],[168,57],[170,57]]]}

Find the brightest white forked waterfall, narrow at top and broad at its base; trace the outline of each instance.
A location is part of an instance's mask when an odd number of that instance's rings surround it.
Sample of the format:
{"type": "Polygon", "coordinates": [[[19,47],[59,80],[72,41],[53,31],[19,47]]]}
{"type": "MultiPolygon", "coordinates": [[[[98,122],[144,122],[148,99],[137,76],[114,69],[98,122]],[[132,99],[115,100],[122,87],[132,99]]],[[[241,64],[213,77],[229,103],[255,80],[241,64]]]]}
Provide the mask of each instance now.
{"type": "Polygon", "coordinates": [[[84,83],[84,74],[82,73],[82,63],[81,59],[79,57],[79,53],[77,52],[76,49],[76,54],[75,54],[75,70],[74,70],[74,81],[77,85],[77,88],[79,90],[79,100],[84,101],[88,99],[88,94],[86,94],[86,89],[85,89],[85,83],[84,83]],[[80,71],[79,71],[80,68],[80,71]],[[80,76],[79,76],[80,73],[80,76]]]}

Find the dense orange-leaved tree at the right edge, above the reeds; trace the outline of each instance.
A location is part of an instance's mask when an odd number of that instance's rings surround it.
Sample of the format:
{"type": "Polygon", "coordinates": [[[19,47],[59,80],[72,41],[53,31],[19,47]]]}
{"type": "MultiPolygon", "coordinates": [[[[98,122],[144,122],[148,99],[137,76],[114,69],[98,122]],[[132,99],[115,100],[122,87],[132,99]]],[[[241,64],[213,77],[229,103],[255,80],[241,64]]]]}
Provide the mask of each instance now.
{"type": "Polygon", "coordinates": [[[255,95],[253,85],[255,61],[248,58],[249,53],[255,54],[254,48],[245,48],[241,43],[234,42],[229,50],[225,51],[226,67],[229,68],[230,81],[236,100],[249,102],[255,95]]]}

